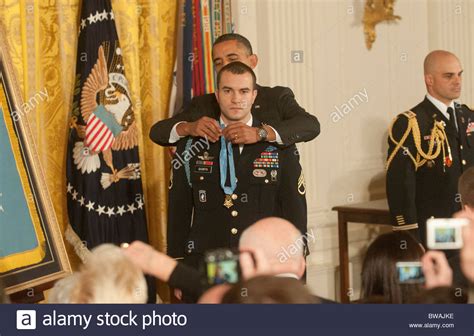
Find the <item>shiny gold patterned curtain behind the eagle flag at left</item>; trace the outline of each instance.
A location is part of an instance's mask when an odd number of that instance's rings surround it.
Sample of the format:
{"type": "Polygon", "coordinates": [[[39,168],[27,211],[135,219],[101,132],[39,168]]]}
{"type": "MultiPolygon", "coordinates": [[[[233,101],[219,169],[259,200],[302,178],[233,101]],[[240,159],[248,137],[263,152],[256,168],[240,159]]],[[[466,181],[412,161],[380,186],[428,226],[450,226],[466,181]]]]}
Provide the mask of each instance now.
{"type": "MultiPolygon", "coordinates": [[[[166,149],[148,138],[151,125],[168,116],[175,59],[177,0],[112,0],[141,129],[140,159],[150,241],[165,249],[166,149]]],[[[76,69],[81,0],[0,0],[0,24],[7,33],[17,80],[28,100],[48,98],[27,114],[58,221],[68,224],[66,149],[76,69]]],[[[78,259],[66,243],[71,263],[78,259]]]]}

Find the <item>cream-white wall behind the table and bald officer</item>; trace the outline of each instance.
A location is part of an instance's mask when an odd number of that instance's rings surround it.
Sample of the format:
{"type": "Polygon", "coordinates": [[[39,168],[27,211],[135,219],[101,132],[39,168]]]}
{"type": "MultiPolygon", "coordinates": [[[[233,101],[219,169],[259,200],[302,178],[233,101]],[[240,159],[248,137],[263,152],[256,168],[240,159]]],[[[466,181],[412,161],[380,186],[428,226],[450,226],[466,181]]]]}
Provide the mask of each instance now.
{"type": "MultiPolygon", "coordinates": [[[[429,50],[446,48],[459,55],[466,69],[463,98],[474,103],[474,0],[399,0],[395,14],[402,20],[378,25],[371,51],[361,24],[364,3],[234,0],[232,8],[236,32],[250,39],[259,56],[258,82],[291,87],[300,105],[321,123],[321,135],[299,148],[309,228],[317,232],[308,285],[328,298],[337,297],[339,288],[337,217],[331,208],[385,197],[387,128],[396,114],[423,99],[422,63],[429,50]],[[291,62],[293,50],[303,51],[303,63],[291,62]],[[341,109],[361,91],[368,101],[353,104],[335,122],[335,106],[341,109]]],[[[374,226],[349,226],[354,299],[361,258],[376,234],[374,226]]]]}

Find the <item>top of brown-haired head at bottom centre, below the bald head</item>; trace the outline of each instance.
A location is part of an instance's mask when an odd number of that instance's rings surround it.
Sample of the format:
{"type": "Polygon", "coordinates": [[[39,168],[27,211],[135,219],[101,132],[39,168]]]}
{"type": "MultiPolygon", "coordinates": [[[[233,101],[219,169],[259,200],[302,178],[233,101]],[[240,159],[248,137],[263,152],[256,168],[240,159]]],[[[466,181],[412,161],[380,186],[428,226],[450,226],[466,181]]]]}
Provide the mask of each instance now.
{"type": "Polygon", "coordinates": [[[319,303],[296,279],[258,276],[234,285],[222,303],[319,303]]]}

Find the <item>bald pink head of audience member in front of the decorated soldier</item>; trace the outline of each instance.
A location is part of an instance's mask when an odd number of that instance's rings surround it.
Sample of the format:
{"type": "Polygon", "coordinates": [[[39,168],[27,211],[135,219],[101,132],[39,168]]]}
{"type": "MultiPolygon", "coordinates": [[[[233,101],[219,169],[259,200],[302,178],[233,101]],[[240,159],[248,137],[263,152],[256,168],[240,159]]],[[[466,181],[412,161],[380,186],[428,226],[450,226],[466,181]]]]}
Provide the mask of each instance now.
{"type": "Polygon", "coordinates": [[[293,224],[269,217],[259,220],[242,233],[239,248],[243,251],[259,249],[278,273],[291,273],[301,278],[306,265],[305,243],[306,237],[293,224]]]}

